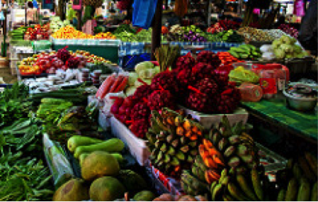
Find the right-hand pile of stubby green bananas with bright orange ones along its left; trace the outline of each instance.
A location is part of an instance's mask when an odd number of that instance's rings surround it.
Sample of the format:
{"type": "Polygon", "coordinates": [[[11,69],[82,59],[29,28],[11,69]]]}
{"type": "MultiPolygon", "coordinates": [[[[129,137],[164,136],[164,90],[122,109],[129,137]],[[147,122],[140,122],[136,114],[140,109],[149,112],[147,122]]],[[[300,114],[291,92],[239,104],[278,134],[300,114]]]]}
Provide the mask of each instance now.
{"type": "Polygon", "coordinates": [[[254,140],[244,133],[242,122],[230,125],[226,116],[204,135],[199,155],[191,171],[183,171],[183,191],[191,195],[205,194],[211,184],[221,182],[222,174],[234,169],[243,174],[259,164],[258,148],[254,140]]]}

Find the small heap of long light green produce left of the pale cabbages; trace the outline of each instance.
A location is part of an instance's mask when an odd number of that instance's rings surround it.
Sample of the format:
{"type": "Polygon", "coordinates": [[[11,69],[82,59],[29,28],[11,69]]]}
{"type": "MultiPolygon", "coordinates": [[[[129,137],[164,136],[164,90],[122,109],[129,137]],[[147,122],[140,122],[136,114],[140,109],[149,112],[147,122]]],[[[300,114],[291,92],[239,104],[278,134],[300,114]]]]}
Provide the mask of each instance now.
{"type": "Polygon", "coordinates": [[[242,60],[257,60],[261,57],[261,50],[254,45],[244,44],[239,47],[231,47],[229,54],[233,55],[237,59],[242,60]]]}

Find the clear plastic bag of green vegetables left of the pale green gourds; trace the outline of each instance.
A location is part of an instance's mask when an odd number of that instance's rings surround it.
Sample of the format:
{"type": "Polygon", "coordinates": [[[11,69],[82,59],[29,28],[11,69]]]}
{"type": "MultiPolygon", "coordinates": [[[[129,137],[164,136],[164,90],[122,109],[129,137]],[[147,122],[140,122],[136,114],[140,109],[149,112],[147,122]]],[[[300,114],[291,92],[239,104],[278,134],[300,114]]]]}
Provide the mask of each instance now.
{"type": "Polygon", "coordinates": [[[62,147],[58,143],[50,140],[47,134],[43,135],[43,146],[55,188],[58,188],[74,177],[72,166],[69,164],[62,147]]]}

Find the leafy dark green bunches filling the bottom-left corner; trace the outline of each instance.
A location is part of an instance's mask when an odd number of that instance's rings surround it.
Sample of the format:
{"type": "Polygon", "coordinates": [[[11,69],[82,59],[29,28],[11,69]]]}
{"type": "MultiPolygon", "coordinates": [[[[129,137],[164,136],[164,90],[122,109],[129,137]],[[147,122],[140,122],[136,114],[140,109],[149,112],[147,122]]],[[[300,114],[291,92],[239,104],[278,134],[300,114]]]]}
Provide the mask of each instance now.
{"type": "Polygon", "coordinates": [[[0,201],[52,198],[51,176],[42,162],[42,133],[38,125],[34,119],[21,118],[0,130],[0,201]]]}

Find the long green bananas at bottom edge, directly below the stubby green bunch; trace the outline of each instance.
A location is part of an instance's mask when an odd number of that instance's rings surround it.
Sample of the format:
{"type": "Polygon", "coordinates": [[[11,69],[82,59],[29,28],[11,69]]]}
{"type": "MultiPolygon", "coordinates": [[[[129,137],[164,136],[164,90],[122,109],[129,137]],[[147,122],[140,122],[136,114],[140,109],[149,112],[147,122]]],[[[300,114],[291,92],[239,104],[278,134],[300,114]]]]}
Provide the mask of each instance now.
{"type": "Polygon", "coordinates": [[[232,168],[222,170],[210,193],[212,201],[268,201],[270,187],[268,177],[256,167],[243,173],[232,168]]]}

